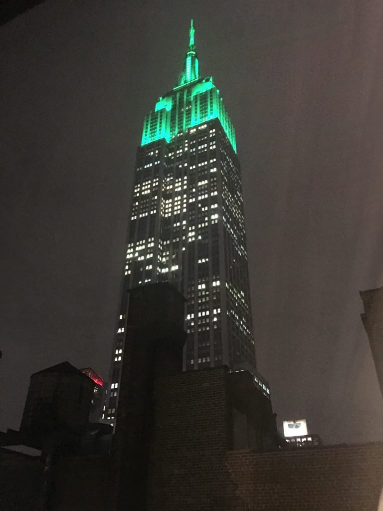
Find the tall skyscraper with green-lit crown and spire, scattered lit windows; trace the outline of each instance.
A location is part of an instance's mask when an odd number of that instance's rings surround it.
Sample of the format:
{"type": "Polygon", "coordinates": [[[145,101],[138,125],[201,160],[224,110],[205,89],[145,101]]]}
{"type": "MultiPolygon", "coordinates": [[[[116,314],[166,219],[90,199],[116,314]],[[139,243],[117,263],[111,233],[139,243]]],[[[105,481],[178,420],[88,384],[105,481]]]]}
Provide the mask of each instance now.
{"type": "Polygon", "coordinates": [[[113,422],[129,288],[168,281],[187,298],[183,369],[256,373],[240,162],[212,77],[201,77],[193,20],[177,85],[143,122],[137,149],[109,401],[113,422]]]}

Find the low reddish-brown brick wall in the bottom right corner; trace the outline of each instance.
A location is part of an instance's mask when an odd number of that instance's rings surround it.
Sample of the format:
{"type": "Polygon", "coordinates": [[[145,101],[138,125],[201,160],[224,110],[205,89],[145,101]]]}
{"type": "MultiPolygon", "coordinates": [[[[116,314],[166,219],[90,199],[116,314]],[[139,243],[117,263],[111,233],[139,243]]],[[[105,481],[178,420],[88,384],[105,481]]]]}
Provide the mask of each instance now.
{"type": "Polygon", "coordinates": [[[383,443],[230,452],[227,466],[247,511],[377,511],[383,443]]]}

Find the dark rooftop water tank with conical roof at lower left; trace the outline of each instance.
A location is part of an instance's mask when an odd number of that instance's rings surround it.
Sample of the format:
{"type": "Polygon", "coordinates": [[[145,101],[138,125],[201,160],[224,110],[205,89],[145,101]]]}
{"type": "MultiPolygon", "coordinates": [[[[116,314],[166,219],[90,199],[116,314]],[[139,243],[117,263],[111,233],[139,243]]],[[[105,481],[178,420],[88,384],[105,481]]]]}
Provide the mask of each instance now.
{"type": "Polygon", "coordinates": [[[20,433],[37,445],[52,433],[82,435],[87,427],[93,381],[69,362],[31,376],[20,433]]]}

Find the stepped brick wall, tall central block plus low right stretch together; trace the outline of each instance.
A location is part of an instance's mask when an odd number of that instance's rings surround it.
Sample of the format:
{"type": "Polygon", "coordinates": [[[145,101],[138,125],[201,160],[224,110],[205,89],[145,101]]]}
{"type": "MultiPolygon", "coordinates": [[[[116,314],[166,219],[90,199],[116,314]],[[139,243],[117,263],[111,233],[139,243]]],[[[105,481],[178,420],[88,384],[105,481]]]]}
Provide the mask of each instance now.
{"type": "Polygon", "coordinates": [[[377,511],[382,443],[231,450],[231,376],[157,380],[147,511],[377,511]]]}

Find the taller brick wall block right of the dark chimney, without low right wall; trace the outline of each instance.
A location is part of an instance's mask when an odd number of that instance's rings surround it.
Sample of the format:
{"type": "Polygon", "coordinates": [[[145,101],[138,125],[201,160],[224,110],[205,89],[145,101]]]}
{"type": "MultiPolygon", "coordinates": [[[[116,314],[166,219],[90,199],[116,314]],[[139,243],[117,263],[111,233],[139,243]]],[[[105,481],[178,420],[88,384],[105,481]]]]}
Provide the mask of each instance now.
{"type": "Polygon", "coordinates": [[[157,380],[148,511],[241,509],[225,463],[227,376],[220,367],[157,380]]]}

